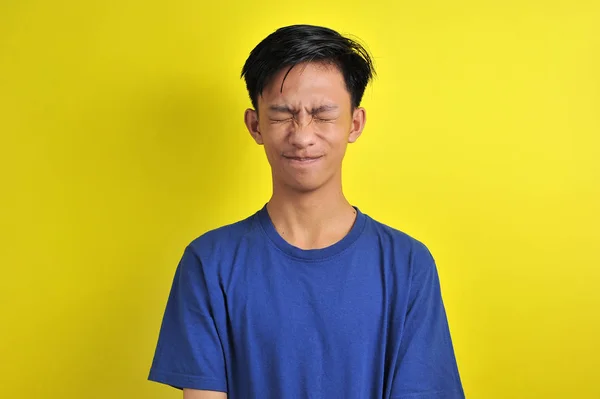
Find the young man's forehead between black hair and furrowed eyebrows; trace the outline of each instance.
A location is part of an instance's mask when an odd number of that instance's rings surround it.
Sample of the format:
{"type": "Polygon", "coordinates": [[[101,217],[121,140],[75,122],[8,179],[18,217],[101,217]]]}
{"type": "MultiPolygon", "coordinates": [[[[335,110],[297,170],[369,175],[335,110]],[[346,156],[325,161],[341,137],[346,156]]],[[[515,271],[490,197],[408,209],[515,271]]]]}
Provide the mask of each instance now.
{"type": "Polygon", "coordinates": [[[344,76],[335,65],[303,63],[282,68],[264,88],[259,104],[350,105],[344,76]],[[289,71],[289,72],[288,72],[289,71]]]}

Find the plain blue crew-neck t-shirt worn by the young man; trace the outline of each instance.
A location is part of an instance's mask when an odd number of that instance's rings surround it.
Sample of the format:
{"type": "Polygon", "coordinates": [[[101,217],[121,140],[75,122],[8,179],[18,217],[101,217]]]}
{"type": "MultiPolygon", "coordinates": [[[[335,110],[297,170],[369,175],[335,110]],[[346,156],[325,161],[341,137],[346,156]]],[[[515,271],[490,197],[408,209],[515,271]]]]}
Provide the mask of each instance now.
{"type": "Polygon", "coordinates": [[[192,241],[149,379],[228,399],[464,398],[430,252],[355,209],[323,249],[285,241],[266,206],[192,241]]]}

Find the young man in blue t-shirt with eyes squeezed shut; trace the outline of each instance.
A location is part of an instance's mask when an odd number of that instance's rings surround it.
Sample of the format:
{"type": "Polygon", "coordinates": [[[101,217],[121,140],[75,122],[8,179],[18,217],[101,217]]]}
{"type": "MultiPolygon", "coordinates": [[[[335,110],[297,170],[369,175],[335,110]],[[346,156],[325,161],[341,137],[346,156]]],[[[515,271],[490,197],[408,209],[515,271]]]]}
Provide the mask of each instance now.
{"type": "Polygon", "coordinates": [[[431,254],[342,192],[373,74],[323,27],[281,28],[251,52],[245,122],[273,194],[185,249],[150,380],[186,399],[464,398],[431,254]]]}

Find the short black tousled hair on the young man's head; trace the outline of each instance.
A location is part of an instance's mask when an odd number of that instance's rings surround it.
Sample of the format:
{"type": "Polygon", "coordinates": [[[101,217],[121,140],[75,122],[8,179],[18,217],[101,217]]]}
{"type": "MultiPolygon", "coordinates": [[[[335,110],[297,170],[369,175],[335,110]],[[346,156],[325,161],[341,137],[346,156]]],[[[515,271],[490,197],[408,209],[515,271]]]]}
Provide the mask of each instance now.
{"type": "Polygon", "coordinates": [[[375,75],[369,53],[356,40],[322,26],[282,27],[250,52],[242,68],[241,77],[246,79],[254,109],[258,110],[258,97],[275,74],[285,67],[289,67],[289,73],[296,64],[303,62],[335,65],[344,76],[352,108],[360,105],[365,88],[375,75]]]}

